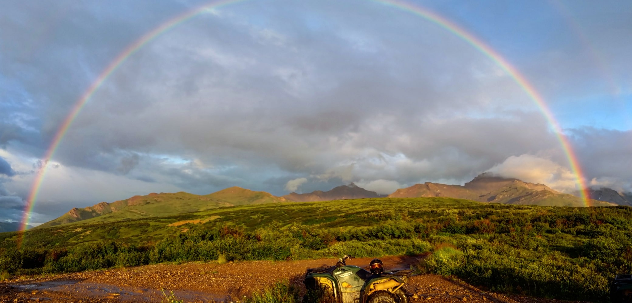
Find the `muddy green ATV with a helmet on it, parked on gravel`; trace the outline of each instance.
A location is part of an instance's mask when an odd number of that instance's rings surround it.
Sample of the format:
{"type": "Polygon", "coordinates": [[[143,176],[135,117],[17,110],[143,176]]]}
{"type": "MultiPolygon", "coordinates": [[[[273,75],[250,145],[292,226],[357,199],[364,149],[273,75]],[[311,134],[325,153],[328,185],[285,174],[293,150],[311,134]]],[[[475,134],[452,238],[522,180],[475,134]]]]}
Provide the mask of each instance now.
{"type": "MultiPolygon", "coordinates": [[[[303,283],[310,291],[320,290],[338,303],[408,303],[403,289],[413,270],[384,272],[382,261],[373,260],[371,272],[360,266],[346,265],[351,256],[344,256],[336,266],[310,268],[303,283]]],[[[304,300],[305,301],[305,300],[304,300]]]]}

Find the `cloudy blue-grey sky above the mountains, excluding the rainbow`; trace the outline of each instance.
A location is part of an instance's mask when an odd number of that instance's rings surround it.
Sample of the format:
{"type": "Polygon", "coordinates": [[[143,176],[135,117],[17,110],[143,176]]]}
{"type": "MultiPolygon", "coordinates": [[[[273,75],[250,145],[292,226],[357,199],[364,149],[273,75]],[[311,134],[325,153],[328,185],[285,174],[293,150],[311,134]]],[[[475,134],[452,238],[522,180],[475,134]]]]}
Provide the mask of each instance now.
{"type": "MultiPolygon", "coordinates": [[[[426,18],[368,0],[1,1],[0,220],[151,192],[378,193],[480,173],[577,190],[542,110],[426,18]]],[[[632,190],[632,2],[406,1],[458,25],[542,96],[589,186],[632,190]]]]}

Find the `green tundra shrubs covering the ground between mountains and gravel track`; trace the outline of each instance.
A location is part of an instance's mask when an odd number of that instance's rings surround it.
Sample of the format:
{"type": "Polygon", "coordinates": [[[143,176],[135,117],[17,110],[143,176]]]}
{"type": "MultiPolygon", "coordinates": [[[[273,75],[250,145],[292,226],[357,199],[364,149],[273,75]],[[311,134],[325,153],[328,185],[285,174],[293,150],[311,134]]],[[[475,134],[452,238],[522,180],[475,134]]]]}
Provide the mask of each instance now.
{"type": "MultiPolygon", "coordinates": [[[[427,254],[422,272],[500,292],[605,301],[632,271],[632,208],[454,198],[270,203],[0,233],[0,272],[78,272],[185,261],[427,254]]],[[[257,300],[257,299],[253,299],[257,300]]]]}

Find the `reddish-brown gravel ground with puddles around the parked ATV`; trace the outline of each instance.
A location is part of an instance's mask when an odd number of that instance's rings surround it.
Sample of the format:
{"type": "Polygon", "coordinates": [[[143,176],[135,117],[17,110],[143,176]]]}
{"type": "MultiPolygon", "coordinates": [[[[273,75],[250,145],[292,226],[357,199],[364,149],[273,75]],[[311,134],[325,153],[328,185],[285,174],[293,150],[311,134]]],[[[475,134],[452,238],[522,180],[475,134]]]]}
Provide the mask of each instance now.
{"type": "MultiPolygon", "coordinates": [[[[349,265],[368,266],[370,258],[350,260],[349,265]]],[[[416,258],[385,257],[388,269],[407,269],[416,258]]],[[[0,282],[0,302],[161,302],[171,291],[185,302],[234,302],[262,290],[270,283],[288,279],[301,284],[307,268],[334,265],[334,259],[300,261],[244,261],[237,263],[187,263],[147,265],[97,270],[47,277],[18,277],[0,282]]],[[[416,275],[405,289],[411,302],[569,302],[520,295],[485,292],[458,280],[437,275],[416,275]]]]}

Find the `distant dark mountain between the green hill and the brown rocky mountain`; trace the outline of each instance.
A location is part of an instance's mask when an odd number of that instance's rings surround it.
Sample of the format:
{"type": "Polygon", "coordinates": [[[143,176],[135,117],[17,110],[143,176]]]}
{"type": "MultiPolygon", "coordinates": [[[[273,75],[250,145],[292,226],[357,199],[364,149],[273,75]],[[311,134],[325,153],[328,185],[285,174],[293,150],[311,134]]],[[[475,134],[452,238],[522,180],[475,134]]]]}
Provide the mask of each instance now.
{"type": "Polygon", "coordinates": [[[346,200],[346,199],[362,199],[362,198],[380,198],[386,197],[386,195],[378,195],[376,192],[370,192],[361,188],[353,183],[349,185],[341,185],[323,192],[322,190],[316,190],[311,193],[289,193],[284,195],[290,201],[295,202],[317,202],[317,201],[331,201],[331,200],[346,200]]]}

